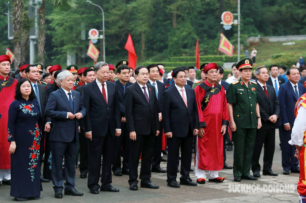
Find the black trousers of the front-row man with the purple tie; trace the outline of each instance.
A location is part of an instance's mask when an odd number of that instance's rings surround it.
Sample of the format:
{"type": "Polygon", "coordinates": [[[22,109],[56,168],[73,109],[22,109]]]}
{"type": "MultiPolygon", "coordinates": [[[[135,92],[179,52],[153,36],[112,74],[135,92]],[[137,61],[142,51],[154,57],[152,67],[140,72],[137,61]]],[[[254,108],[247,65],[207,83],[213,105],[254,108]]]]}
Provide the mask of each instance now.
{"type": "Polygon", "coordinates": [[[131,141],[131,150],[129,158],[130,179],[129,184],[137,184],[138,180],[138,163],[141,153],[141,166],[139,178],[143,183],[151,182],[151,164],[153,157],[153,148],[155,142],[155,134],[136,135],[136,140],[131,141]]]}

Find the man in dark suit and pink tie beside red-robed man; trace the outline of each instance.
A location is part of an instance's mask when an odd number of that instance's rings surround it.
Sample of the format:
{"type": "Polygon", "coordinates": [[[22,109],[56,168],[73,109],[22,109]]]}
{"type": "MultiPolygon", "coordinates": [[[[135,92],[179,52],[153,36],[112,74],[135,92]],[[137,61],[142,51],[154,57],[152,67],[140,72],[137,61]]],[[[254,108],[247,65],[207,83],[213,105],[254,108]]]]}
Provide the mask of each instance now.
{"type": "Polygon", "coordinates": [[[182,68],[173,71],[175,85],[164,91],[162,121],[168,137],[167,182],[170,187],[180,187],[176,181],[177,157],[181,146],[181,185],[196,186],[189,173],[192,159],[193,135],[199,131],[199,116],[195,92],[185,88],[187,76],[182,68]]]}

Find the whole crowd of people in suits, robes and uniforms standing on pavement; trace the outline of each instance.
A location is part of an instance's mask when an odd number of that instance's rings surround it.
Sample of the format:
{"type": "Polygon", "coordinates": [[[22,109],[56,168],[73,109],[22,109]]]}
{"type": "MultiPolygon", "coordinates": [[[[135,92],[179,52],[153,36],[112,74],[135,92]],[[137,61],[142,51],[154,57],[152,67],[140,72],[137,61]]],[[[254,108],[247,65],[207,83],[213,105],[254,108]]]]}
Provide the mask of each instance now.
{"type": "MultiPolygon", "coordinates": [[[[260,171],[277,176],[272,171],[276,128],[283,174],[300,173],[297,158],[304,163],[306,125],[302,118],[297,125],[295,117],[306,111],[306,78],[298,68],[287,70],[285,81],[277,65],[269,71],[258,66],[253,81],[253,61],[244,58],[233,64],[226,81],[215,63],[201,65],[200,80],[195,68],[186,66],[175,68],[170,80],[163,77],[163,64],[132,69],[121,60],[116,66],[98,62],[63,70],[22,62],[14,78],[10,62],[9,56],[0,56],[0,180],[11,185],[15,201],[39,199],[41,182],[50,180],[56,198],[63,197],[62,190],[84,195],[75,189],[78,160],[80,178],[88,178],[91,194],[119,192],[111,185],[112,172],[129,175],[129,189],[137,190],[140,159],[140,187],[151,189],[159,188],[151,172],[167,173],[167,185],[175,188],[223,182],[222,169],[233,169],[237,182],[257,180],[260,171]],[[227,150],[234,144],[233,167],[226,164],[226,143],[227,150]],[[196,182],[189,176],[193,148],[196,182]],[[166,170],[161,161],[167,161],[166,170]]],[[[300,189],[301,198],[305,191],[300,189]]]]}

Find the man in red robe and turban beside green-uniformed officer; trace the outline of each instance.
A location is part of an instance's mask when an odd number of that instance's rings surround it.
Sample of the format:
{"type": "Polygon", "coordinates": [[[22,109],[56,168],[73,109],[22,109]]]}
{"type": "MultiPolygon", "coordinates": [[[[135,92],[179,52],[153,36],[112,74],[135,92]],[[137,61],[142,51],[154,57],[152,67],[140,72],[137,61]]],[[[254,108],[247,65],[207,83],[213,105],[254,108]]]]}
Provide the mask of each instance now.
{"type": "Polygon", "coordinates": [[[216,83],[218,66],[209,63],[203,67],[206,80],[195,88],[200,129],[196,140],[195,175],[197,183],[222,182],[218,172],[223,168],[223,135],[229,125],[224,88],[216,83]]]}

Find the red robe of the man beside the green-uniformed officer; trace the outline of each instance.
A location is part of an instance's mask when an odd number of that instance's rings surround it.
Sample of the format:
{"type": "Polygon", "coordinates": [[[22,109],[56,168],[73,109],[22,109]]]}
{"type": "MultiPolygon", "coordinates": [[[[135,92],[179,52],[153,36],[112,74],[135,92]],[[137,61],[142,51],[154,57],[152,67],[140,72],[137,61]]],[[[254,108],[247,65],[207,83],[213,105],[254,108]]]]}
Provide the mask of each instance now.
{"type": "Polygon", "coordinates": [[[221,128],[229,124],[226,94],[221,85],[215,83],[212,87],[207,80],[195,88],[195,93],[200,127],[205,132],[202,138],[198,137],[199,169],[220,171],[223,168],[221,128]]]}

